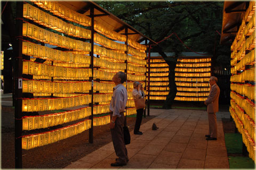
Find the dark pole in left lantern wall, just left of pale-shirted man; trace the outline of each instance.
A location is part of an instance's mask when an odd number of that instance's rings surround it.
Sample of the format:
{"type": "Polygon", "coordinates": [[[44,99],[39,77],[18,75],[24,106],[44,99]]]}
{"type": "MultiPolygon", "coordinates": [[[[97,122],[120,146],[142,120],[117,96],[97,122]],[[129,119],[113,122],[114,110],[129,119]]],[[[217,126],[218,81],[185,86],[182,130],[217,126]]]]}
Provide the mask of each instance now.
{"type": "Polygon", "coordinates": [[[90,9],[90,17],[91,17],[91,39],[90,39],[90,43],[91,43],[91,52],[90,52],[90,56],[91,56],[91,69],[92,69],[92,87],[91,87],[91,94],[92,94],[92,98],[91,98],[91,116],[89,117],[92,121],[91,121],[91,129],[89,129],[89,143],[93,143],[93,45],[94,45],[94,6],[91,7],[90,9]]]}

